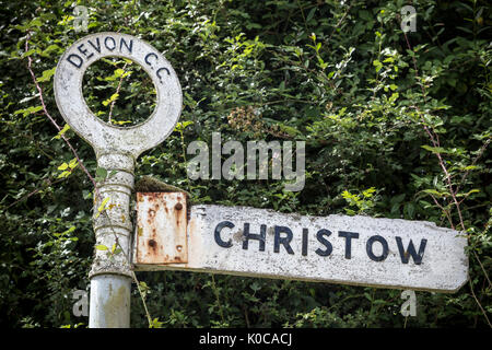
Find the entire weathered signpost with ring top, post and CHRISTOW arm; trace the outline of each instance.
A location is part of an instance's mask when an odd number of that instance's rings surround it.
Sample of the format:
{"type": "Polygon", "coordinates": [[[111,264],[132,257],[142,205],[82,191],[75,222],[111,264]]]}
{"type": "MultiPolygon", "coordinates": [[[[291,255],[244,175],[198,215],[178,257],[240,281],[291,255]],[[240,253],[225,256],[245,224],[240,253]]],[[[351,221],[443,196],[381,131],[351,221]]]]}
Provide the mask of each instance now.
{"type": "Polygon", "coordinates": [[[90,272],[89,326],[129,327],[134,270],[189,270],[383,288],[454,292],[468,278],[466,237],[430,222],[278,213],[222,206],[188,208],[184,192],[137,194],[138,224],[130,220],[136,159],[161,143],[181,110],[179,81],[151,45],[119,33],[75,42],[58,62],[55,97],[67,124],[114,175],[97,184],[96,250],[90,272]],[[90,65],[108,56],[131,59],[152,78],[153,114],[133,127],[98,119],[82,95],[90,65]]]}

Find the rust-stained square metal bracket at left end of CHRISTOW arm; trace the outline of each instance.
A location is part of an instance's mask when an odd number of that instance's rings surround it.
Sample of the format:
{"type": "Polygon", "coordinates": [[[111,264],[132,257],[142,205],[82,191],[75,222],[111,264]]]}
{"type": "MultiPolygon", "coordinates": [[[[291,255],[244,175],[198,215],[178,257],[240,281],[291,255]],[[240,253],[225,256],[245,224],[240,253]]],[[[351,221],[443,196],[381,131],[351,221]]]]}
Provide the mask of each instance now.
{"type": "Polygon", "coordinates": [[[137,194],[136,264],[187,262],[184,192],[137,194]]]}

